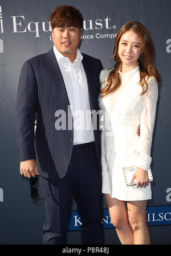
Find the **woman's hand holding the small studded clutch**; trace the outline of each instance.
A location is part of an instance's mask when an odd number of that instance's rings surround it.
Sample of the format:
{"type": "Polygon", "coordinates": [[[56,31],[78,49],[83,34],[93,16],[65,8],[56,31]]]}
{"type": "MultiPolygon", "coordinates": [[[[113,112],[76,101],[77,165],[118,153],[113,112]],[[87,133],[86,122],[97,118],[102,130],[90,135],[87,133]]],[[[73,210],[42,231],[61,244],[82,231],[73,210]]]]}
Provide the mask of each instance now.
{"type": "Polygon", "coordinates": [[[131,183],[137,179],[137,187],[145,188],[148,186],[148,172],[145,171],[144,169],[137,168],[135,174],[133,174],[131,183]]]}

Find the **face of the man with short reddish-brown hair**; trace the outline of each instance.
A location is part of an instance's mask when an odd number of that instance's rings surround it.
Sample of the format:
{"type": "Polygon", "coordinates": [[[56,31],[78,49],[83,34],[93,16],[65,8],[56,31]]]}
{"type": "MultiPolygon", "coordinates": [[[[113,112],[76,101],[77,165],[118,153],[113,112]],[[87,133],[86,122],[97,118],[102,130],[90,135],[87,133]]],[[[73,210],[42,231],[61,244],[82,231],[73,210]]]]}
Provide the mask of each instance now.
{"type": "Polygon", "coordinates": [[[82,29],[79,27],[55,27],[52,30],[52,38],[56,49],[68,57],[71,62],[76,58],[82,29]]]}

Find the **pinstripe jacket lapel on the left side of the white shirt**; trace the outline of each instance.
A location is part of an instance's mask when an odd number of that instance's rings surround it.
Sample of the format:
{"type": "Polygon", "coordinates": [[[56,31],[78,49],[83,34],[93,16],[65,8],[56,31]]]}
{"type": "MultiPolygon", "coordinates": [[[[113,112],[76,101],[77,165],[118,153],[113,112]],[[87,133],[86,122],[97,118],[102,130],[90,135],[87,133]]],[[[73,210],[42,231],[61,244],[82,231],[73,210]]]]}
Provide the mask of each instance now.
{"type": "Polygon", "coordinates": [[[60,93],[60,96],[68,105],[70,105],[66,86],[64,84],[62,73],[60,72],[60,68],[59,68],[58,62],[56,61],[56,57],[53,49],[51,49],[50,52],[45,54],[43,64],[47,69],[47,72],[50,73],[52,80],[54,81],[56,87],[58,88],[58,92],[60,93]]]}

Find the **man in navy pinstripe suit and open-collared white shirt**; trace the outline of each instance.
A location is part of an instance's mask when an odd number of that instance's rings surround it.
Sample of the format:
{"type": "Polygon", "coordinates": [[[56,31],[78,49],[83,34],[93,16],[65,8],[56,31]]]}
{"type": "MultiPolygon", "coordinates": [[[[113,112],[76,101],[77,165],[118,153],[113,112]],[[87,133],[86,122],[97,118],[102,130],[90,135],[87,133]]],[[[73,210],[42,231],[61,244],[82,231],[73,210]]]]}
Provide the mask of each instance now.
{"type": "Polygon", "coordinates": [[[102,244],[99,116],[92,125],[91,111],[99,111],[103,67],[100,60],[79,52],[79,10],[59,6],[50,21],[54,47],[26,61],[19,78],[20,171],[27,178],[41,175],[43,194],[50,194],[45,199],[44,244],[67,243],[73,195],[82,220],[82,243],[102,244]],[[89,129],[80,125],[87,120],[89,129]]]}

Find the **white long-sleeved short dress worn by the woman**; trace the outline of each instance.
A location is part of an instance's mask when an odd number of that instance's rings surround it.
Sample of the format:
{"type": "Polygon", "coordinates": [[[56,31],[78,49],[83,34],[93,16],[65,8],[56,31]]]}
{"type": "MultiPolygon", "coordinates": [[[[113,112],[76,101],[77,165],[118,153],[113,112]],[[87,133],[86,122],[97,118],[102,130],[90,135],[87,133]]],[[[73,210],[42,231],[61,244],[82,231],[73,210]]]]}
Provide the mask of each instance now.
{"type": "MultiPolygon", "coordinates": [[[[110,70],[101,70],[100,82],[104,88],[110,70]]],[[[142,93],[139,66],[127,73],[119,72],[121,86],[101,98],[104,125],[101,131],[102,192],[124,201],[152,198],[151,185],[146,188],[127,187],[123,167],[134,166],[148,170],[152,158],[153,127],[158,97],[157,81],[148,80],[148,91],[142,93]],[[140,136],[137,127],[140,126],[140,136]]]]}

